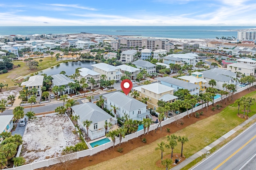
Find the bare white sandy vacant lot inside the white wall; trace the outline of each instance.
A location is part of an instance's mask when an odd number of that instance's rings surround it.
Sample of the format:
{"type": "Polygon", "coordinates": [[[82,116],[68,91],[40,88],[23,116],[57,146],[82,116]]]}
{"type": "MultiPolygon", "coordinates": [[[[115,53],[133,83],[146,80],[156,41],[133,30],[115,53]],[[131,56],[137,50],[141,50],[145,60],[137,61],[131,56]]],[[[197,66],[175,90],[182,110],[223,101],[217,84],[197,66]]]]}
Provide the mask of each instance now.
{"type": "Polygon", "coordinates": [[[80,142],[66,115],[52,115],[28,121],[23,136],[21,155],[26,163],[53,158],[62,150],[80,142]]]}

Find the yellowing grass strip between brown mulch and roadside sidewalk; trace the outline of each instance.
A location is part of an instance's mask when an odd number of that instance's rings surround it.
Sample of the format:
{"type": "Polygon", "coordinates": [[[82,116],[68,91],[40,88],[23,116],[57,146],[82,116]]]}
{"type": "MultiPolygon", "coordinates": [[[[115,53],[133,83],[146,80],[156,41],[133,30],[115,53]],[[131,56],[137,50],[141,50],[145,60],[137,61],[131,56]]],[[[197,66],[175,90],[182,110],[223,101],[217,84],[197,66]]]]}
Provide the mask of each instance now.
{"type": "MultiPolygon", "coordinates": [[[[256,98],[256,91],[252,92],[246,97],[251,96],[252,98],[256,98]]],[[[240,107],[241,108],[241,107],[240,107]]],[[[240,109],[242,111],[242,108],[240,109]]],[[[223,109],[220,113],[203,119],[185,127],[184,129],[176,132],[176,135],[187,136],[189,142],[184,144],[183,153],[185,157],[189,157],[192,154],[198,152],[202,148],[206,147],[216,139],[220,138],[222,135],[239,125],[244,121],[236,116],[238,113],[238,107],[236,104],[232,104],[223,109]]],[[[242,112],[240,112],[242,113],[242,112]]],[[[249,117],[256,113],[256,104],[251,107],[251,112],[249,113],[249,117]]],[[[148,136],[146,135],[146,138],[148,136]]],[[[161,141],[166,141],[166,137],[158,139],[157,141],[150,143],[149,145],[145,145],[144,147],[139,147],[134,149],[127,154],[119,156],[117,158],[113,158],[111,160],[102,162],[100,164],[96,164],[94,166],[90,166],[84,168],[83,170],[94,170],[94,169],[104,169],[104,170],[112,170],[112,169],[140,169],[144,170],[160,170],[162,168],[158,168],[156,166],[156,162],[161,158],[161,152],[155,151],[155,147],[157,147],[157,143],[161,141]]],[[[122,144],[121,144],[122,147],[122,144]]],[[[180,152],[181,144],[178,143],[178,146],[174,149],[175,152],[180,152]]],[[[171,150],[166,149],[164,155],[170,154],[171,150]]]]}

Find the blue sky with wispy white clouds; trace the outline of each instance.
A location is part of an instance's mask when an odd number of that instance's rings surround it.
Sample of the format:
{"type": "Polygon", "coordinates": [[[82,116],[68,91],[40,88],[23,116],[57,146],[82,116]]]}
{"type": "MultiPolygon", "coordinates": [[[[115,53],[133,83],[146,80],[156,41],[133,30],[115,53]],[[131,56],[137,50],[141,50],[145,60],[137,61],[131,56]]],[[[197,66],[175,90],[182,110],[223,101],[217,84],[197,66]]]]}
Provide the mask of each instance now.
{"type": "Polygon", "coordinates": [[[255,26],[255,0],[1,0],[0,26],[255,26]]]}

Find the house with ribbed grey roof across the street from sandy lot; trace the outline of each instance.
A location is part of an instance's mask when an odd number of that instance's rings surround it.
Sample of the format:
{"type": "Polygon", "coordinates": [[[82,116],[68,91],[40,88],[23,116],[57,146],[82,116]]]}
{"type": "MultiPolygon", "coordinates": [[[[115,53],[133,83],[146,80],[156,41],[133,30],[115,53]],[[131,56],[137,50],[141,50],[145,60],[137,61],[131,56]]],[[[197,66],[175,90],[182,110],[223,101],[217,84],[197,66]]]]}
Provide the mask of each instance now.
{"type": "MultiPolygon", "coordinates": [[[[64,74],[55,74],[51,75],[52,79],[52,87],[54,86],[65,86],[63,95],[64,94],[70,94],[72,93],[72,90],[70,86],[68,86],[69,83],[76,83],[74,80],[71,80],[69,77],[65,76],[64,74]]],[[[60,92],[58,92],[58,95],[60,95],[60,92]]]]}

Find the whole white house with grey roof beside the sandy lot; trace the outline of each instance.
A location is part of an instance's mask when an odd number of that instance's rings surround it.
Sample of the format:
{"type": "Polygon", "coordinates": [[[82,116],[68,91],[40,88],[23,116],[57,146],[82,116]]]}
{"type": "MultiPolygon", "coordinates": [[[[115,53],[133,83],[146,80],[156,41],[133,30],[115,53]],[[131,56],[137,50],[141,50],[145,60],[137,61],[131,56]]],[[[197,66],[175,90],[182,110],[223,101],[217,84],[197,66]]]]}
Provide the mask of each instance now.
{"type": "Polygon", "coordinates": [[[79,116],[79,119],[77,120],[78,125],[83,128],[83,130],[87,134],[86,126],[84,126],[84,121],[92,121],[90,124],[89,131],[88,131],[88,137],[91,140],[100,138],[105,136],[105,122],[114,122],[116,123],[116,118],[112,117],[106,111],[102,110],[100,107],[98,107],[96,104],[93,103],[83,103],[76,106],[72,106],[72,115],[73,116],[79,116]]]}

